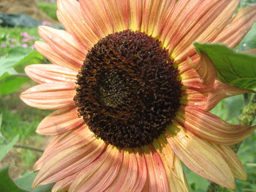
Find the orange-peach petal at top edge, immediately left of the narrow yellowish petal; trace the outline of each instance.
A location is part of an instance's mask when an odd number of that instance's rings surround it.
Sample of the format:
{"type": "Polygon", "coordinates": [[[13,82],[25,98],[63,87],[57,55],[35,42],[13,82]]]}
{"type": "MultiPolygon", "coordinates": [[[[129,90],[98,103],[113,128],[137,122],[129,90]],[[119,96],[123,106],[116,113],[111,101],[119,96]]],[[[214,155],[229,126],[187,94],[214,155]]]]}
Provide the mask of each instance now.
{"type": "Polygon", "coordinates": [[[127,30],[129,28],[129,3],[127,0],[106,1],[106,9],[114,32],[127,30]]]}

